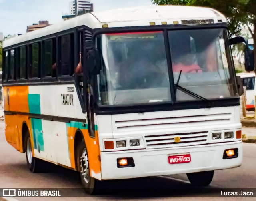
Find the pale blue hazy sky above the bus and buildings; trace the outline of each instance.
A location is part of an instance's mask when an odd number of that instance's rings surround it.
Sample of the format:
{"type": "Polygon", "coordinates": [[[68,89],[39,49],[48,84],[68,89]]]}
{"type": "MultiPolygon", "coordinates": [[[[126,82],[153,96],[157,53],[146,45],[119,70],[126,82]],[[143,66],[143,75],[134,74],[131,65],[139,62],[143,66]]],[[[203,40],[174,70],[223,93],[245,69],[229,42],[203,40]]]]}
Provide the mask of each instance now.
{"type": "MultiPolygon", "coordinates": [[[[69,14],[72,0],[0,0],[0,32],[24,34],[28,25],[48,20],[50,24],[62,22],[62,15],[69,14]]],[[[91,0],[94,11],[132,6],[150,6],[151,0],[91,0]]]]}

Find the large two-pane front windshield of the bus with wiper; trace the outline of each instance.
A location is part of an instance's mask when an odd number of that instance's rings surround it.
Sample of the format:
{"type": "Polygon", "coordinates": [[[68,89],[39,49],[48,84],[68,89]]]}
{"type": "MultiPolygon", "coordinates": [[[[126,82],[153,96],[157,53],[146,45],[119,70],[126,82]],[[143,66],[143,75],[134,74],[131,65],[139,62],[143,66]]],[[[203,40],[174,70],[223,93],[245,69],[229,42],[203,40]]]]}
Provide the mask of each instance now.
{"type": "Polygon", "coordinates": [[[99,103],[164,103],[172,102],[172,96],[177,102],[238,97],[227,39],[222,28],[172,30],[168,40],[162,31],[102,34],[98,36],[103,58],[99,103]]]}

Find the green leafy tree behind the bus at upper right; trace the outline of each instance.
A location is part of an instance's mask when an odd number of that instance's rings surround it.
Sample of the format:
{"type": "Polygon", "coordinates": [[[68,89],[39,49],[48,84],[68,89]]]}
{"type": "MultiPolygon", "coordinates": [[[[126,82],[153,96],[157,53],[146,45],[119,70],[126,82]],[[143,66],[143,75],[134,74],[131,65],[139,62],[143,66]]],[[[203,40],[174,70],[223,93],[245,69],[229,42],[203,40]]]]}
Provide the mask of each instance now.
{"type": "Polygon", "coordinates": [[[254,72],[256,73],[256,2],[255,0],[152,0],[158,5],[187,5],[214,8],[228,21],[230,36],[237,36],[245,25],[254,41],[254,72]],[[253,27],[253,30],[251,29],[253,27]]]}

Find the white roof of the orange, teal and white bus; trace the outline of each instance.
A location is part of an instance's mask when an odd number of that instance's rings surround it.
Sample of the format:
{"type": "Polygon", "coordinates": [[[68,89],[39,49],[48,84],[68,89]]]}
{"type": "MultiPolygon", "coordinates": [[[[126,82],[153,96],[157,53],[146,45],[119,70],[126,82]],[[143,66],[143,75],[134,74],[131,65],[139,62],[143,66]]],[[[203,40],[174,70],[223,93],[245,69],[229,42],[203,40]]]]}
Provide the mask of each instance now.
{"type": "Polygon", "coordinates": [[[59,24],[54,24],[46,28],[41,28],[4,41],[4,48],[33,40],[76,26],[88,26],[92,29],[102,28],[102,24],[108,24],[108,27],[125,27],[125,26],[148,26],[150,22],[156,25],[173,24],[181,20],[209,20],[213,19],[214,23],[226,22],[226,18],[218,11],[212,8],[194,7],[194,6],[145,6],[134,8],[121,8],[107,10],[102,12],[92,12],[66,20],[59,24]]]}

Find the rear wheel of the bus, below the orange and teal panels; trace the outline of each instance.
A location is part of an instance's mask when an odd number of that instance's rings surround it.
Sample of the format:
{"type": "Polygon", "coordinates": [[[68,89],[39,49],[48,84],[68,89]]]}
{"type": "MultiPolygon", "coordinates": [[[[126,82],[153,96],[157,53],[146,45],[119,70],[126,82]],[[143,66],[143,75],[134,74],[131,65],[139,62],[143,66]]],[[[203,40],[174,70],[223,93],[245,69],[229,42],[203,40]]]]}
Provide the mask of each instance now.
{"type": "Polygon", "coordinates": [[[28,169],[32,173],[41,172],[42,167],[44,167],[44,165],[41,163],[40,159],[32,156],[31,138],[28,131],[25,137],[25,149],[26,149],[26,159],[27,159],[28,169]]]}

